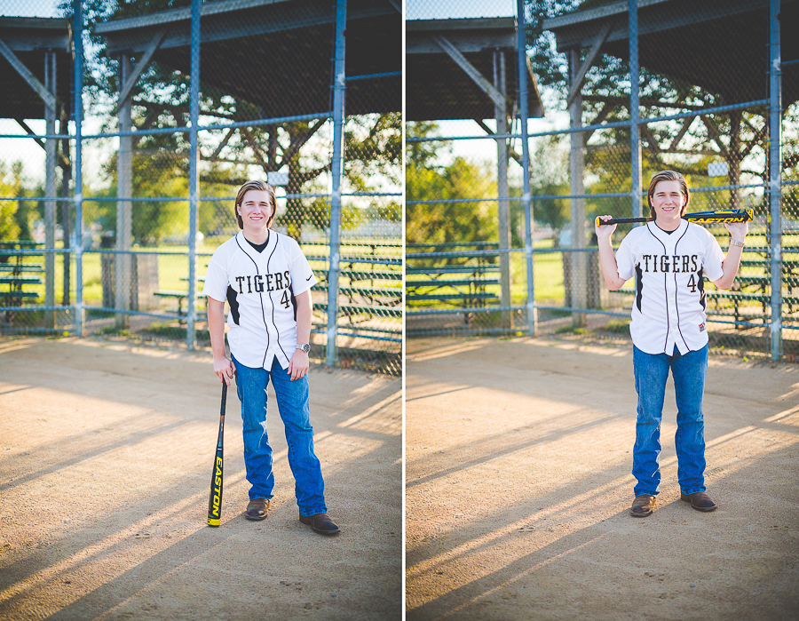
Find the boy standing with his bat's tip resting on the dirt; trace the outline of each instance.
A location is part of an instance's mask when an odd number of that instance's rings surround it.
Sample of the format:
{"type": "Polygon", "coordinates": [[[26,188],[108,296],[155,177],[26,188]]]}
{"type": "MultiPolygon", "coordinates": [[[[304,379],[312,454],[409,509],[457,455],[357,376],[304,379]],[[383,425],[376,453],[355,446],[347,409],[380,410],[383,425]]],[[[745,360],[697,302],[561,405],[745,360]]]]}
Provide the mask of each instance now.
{"type": "Polygon", "coordinates": [[[266,436],[266,386],[271,379],[289,444],[299,519],[315,532],[334,535],[339,528],[325,506],[308,398],[311,287],[317,281],[299,244],[269,228],[275,209],[273,187],[263,181],[241,186],[235,202],[241,232],[210,259],[202,292],[208,296],[214,373],[228,386],[236,377],[251,485],[244,516],[263,520],[273,498],[272,447],[266,436]],[[225,299],[233,360],[225,356],[225,299]]]}

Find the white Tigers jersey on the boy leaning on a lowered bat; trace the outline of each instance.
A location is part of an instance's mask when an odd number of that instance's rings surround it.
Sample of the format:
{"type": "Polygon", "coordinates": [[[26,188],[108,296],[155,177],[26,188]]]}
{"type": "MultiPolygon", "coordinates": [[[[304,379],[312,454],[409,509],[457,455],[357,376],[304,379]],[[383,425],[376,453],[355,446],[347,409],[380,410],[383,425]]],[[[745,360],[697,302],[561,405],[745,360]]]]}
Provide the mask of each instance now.
{"type": "Polygon", "coordinates": [[[214,252],[202,293],[227,300],[227,342],[236,360],[251,369],[272,368],[277,356],[283,369],[297,349],[295,297],[317,282],[299,244],[269,231],[258,252],[240,232],[214,252]]]}

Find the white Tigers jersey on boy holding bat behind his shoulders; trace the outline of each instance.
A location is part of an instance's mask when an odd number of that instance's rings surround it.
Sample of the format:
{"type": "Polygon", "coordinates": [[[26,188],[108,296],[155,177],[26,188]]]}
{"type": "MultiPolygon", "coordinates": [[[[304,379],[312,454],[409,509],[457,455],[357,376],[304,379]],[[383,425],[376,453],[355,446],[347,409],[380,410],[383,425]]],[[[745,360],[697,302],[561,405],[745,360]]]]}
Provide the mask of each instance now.
{"type": "Polygon", "coordinates": [[[708,344],[702,276],[724,275],[724,252],[703,227],[683,220],[672,233],[654,222],[634,228],[616,251],[619,276],[636,277],[629,333],[646,354],[680,354],[708,344]]]}

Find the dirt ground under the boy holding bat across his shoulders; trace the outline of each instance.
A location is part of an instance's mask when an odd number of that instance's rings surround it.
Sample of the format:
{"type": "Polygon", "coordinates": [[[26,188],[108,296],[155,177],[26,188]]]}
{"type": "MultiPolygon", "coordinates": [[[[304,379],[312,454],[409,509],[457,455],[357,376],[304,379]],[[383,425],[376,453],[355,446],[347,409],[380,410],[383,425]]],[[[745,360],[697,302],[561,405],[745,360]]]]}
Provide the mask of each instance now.
{"type": "Polygon", "coordinates": [[[408,621],[796,619],[799,366],[711,358],[709,514],[679,499],[668,391],[633,518],[629,345],[410,339],[408,621]]]}

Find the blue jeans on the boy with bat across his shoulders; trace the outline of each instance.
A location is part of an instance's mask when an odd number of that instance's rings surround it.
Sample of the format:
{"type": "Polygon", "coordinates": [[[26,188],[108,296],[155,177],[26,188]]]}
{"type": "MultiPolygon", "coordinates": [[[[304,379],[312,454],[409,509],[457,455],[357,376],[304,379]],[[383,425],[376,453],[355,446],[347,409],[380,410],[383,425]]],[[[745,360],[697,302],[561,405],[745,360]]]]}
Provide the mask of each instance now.
{"type": "Polygon", "coordinates": [[[705,420],[702,397],[708,372],[708,346],[680,355],[645,354],[633,346],[638,394],[636,445],[632,474],[636,496],[657,496],[661,490],[661,418],[668,370],[674,378],[677,431],[674,438],[677,479],[684,494],[705,491],[705,420]]]}

